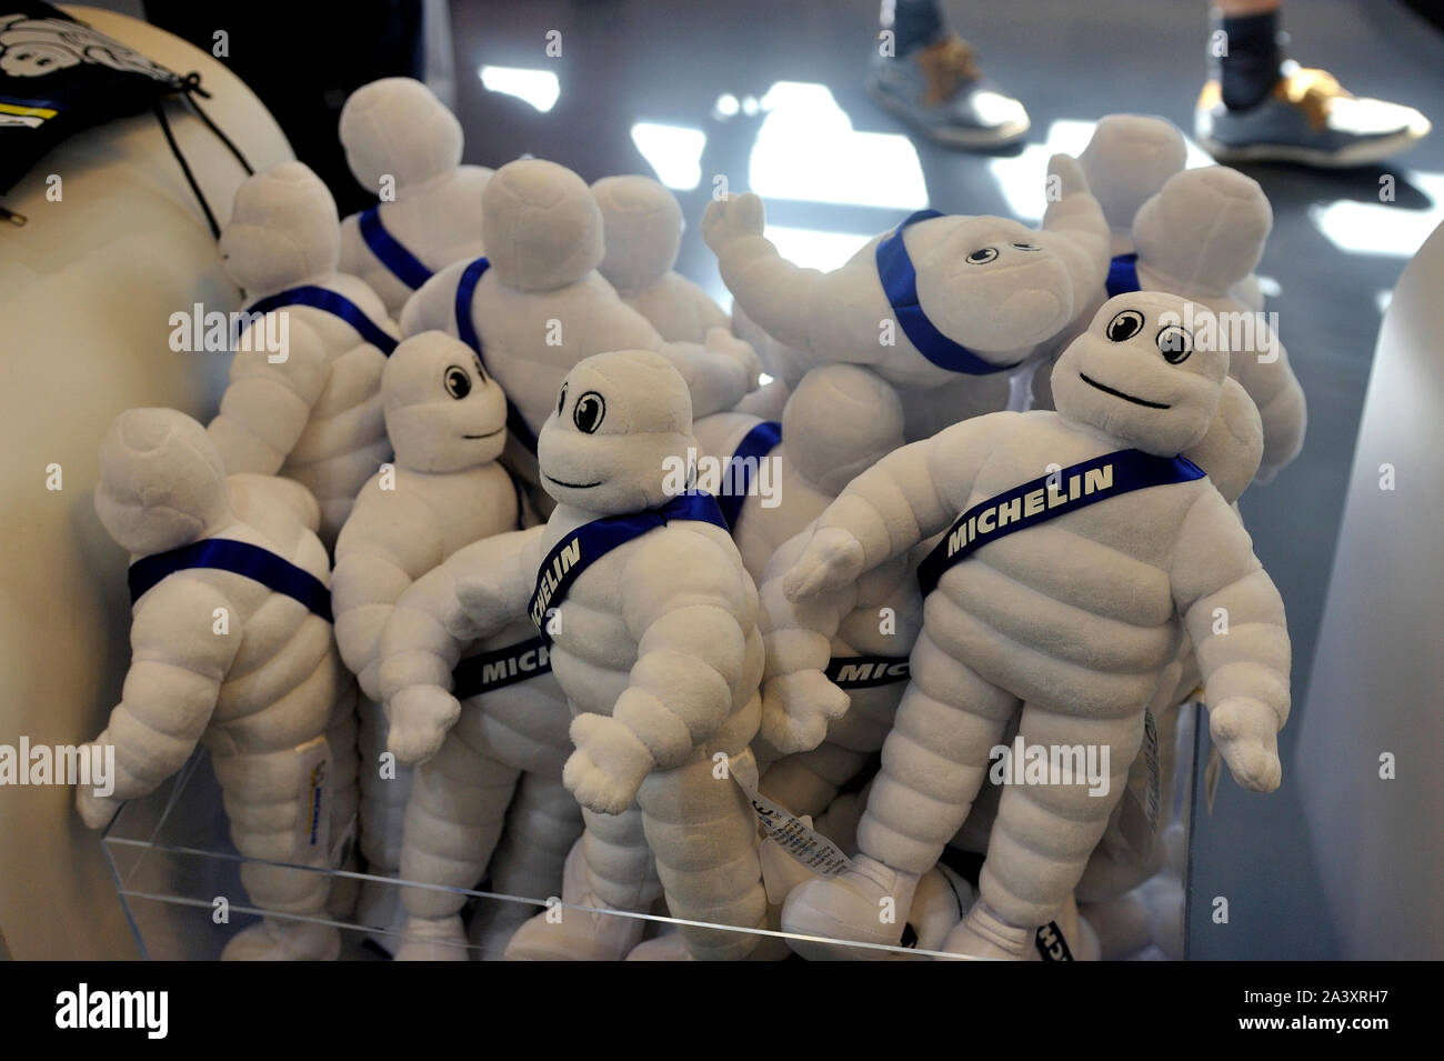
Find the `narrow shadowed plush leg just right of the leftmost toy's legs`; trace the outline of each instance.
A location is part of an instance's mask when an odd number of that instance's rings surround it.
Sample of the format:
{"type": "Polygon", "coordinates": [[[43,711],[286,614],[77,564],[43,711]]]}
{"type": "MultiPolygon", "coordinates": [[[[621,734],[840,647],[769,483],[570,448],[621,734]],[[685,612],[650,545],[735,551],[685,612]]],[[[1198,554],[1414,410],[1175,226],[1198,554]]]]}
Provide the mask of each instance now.
{"type": "MultiPolygon", "coordinates": [[[[394,878],[401,865],[401,827],[414,771],[394,756],[387,755],[384,761],[381,758],[388,732],[386,709],[358,697],[357,713],[361,722],[358,843],[370,873],[394,878]]],[[[367,881],[361,886],[357,921],[375,928],[397,928],[401,922],[400,904],[400,889],[396,885],[367,881]]]]}

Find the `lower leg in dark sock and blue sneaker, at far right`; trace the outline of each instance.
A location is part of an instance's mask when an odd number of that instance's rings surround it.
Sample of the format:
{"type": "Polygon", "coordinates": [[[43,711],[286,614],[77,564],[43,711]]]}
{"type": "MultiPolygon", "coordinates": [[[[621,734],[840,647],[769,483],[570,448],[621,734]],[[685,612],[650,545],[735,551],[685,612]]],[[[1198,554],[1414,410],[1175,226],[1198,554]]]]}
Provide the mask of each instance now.
{"type": "Polygon", "coordinates": [[[1213,78],[1194,114],[1199,141],[1220,162],[1360,166],[1422,139],[1412,107],[1360,100],[1327,72],[1284,58],[1281,0],[1213,0],[1213,78]]]}

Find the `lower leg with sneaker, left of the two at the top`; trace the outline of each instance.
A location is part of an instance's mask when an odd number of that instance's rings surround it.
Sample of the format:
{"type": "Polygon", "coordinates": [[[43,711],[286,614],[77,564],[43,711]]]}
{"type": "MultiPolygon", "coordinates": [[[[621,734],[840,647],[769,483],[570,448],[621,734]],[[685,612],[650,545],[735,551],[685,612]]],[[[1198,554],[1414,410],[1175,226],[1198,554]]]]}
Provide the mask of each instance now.
{"type": "Polygon", "coordinates": [[[931,140],[998,147],[1028,131],[1028,113],[978,69],[941,0],[882,0],[868,92],[931,140]]]}

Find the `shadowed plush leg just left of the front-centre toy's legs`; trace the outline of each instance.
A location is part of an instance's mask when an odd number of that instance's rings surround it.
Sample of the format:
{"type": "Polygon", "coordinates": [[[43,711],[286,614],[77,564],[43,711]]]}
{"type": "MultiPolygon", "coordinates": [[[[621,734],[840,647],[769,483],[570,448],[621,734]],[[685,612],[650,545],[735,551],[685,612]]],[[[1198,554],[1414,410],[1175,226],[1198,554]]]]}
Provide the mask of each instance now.
{"type": "MultiPolygon", "coordinates": [[[[582,808],[562,787],[562,778],[523,774],[501,843],[491,856],[488,891],[530,899],[560,896],[566,853],[580,836],[582,808]]],[[[523,902],[482,901],[466,930],[481,960],[500,960],[511,934],[534,912],[523,902]]]]}

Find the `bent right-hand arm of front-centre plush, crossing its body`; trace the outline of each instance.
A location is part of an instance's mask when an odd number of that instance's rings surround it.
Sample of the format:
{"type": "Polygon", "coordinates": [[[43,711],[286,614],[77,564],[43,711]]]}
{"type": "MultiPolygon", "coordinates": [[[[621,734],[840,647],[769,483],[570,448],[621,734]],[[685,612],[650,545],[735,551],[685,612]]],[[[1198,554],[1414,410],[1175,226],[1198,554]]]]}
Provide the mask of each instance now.
{"type": "Polygon", "coordinates": [[[609,716],[572,720],[576,751],[562,780],[578,803],[627,810],[651,771],[687,762],[732,713],[747,671],[748,585],[738,559],[705,534],[684,524],[653,533],[622,580],[637,638],[627,689],[609,716]]]}

